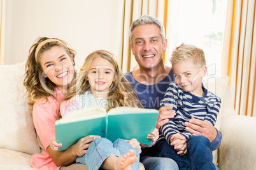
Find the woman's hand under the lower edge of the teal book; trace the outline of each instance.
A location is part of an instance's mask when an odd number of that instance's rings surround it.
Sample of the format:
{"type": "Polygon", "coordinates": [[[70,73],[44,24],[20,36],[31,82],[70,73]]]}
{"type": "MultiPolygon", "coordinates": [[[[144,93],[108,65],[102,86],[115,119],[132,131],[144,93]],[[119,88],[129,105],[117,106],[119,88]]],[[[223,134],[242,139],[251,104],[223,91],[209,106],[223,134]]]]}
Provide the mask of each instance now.
{"type": "Polygon", "coordinates": [[[90,142],[101,136],[89,135],[81,138],[75,145],[72,146],[72,152],[78,157],[86,154],[87,149],[90,147],[90,142]]]}

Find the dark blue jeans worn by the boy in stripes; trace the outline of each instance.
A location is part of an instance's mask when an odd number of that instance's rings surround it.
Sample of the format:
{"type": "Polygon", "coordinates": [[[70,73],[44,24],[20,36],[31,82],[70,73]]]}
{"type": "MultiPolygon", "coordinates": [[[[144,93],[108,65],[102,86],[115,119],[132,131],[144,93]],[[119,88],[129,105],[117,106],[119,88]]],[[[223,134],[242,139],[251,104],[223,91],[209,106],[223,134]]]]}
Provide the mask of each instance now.
{"type": "Polygon", "coordinates": [[[187,155],[180,156],[174,147],[169,145],[165,139],[156,143],[157,156],[173,159],[179,169],[218,169],[213,164],[211,143],[204,136],[190,136],[187,140],[187,155]]]}

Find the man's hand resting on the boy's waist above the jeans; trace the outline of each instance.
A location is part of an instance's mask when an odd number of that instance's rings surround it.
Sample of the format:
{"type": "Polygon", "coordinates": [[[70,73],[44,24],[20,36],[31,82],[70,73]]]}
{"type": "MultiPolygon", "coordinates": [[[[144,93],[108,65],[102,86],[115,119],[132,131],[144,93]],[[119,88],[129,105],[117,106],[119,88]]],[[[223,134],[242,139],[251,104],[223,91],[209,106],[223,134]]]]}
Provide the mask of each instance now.
{"type": "Polygon", "coordinates": [[[217,130],[206,121],[201,121],[192,117],[189,122],[185,122],[185,126],[187,126],[186,131],[197,136],[203,135],[208,138],[210,142],[217,137],[217,130]]]}

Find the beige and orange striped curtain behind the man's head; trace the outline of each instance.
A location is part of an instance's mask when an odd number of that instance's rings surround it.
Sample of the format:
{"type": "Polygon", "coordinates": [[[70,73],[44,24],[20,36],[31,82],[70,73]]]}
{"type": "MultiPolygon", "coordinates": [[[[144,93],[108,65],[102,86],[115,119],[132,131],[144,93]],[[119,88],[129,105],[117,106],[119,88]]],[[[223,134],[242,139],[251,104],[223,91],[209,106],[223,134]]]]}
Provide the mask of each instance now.
{"type": "Polygon", "coordinates": [[[129,28],[131,23],[141,15],[152,15],[159,18],[166,26],[167,0],[124,0],[120,10],[120,49],[118,49],[118,62],[122,65],[123,72],[134,69],[138,63],[132,55],[130,48],[129,28]]]}

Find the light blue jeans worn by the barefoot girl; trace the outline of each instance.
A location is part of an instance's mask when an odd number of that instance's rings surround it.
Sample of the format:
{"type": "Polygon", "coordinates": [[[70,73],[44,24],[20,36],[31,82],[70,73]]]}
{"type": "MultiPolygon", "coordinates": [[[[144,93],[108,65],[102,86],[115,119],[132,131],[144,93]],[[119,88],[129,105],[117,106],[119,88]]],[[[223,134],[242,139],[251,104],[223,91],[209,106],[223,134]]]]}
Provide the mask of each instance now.
{"type": "Polygon", "coordinates": [[[117,139],[114,143],[106,138],[96,138],[90,143],[87,153],[82,157],[77,157],[76,162],[86,164],[87,169],[97,170],[101,167],[104,160],[110,155],[121,157],[129,152],[130,149],[135,150],[137,160],[132,164],[132,169],[139,169],[139,150],[132,148],[132,146],[125,140],[117,139]]]}

